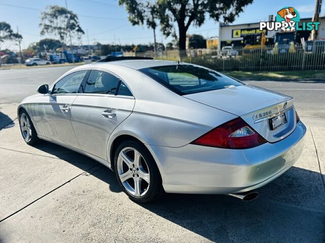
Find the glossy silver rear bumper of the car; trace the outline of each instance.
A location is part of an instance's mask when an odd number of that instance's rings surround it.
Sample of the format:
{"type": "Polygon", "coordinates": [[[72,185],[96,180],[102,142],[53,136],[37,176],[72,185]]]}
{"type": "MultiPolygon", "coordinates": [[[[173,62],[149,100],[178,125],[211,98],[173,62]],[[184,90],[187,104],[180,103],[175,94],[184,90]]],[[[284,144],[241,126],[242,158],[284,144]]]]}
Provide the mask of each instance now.
{"type": "Polygon", "coordinates": [[[222,149],[188,144],[179,148],[147,145],[169,193],[226,194],[261,187],[288,170],[300,157],[306,127],[276,143],[250,149],[222,149]]]}

